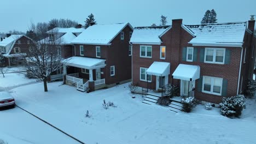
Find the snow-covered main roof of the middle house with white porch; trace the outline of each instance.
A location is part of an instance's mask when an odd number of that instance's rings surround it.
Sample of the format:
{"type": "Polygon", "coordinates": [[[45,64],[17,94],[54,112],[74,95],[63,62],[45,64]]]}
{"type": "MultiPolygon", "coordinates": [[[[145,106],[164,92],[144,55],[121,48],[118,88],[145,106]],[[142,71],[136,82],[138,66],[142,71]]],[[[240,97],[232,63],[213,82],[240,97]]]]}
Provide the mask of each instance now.
{"type": "Polygon", "coordinates": [[[130,28],[132,28],[128,22],[108,25],[93,25],[85,29],[80,35],[78,35],[77,38],[72,41],[72,43],[110,45],[111,41],[117,37],[117,35],[126,26],[130,26],[130,28]]]}

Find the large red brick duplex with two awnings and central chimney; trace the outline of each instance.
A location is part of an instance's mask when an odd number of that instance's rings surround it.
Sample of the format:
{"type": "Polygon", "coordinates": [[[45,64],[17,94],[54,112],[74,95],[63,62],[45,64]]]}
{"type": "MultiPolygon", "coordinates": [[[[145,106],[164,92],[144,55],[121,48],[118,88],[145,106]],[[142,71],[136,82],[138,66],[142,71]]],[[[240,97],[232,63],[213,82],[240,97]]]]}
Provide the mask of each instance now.
{"type": "Polygon", "coordinates": [[[173,83],[181,96],[216,104],[242,93],[252,79],[254,22],[183,25],[177,19],[172,26],[136,27],[130,40],[133,84],[158,90],[173,83]]]}

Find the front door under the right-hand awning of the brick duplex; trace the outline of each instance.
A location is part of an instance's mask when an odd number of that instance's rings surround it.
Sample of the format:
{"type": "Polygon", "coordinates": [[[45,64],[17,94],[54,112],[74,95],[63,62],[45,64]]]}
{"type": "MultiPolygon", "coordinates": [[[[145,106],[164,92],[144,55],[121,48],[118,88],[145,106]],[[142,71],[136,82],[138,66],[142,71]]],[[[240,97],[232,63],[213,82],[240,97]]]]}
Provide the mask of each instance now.
{"type": "Polygon", "coordinates": [[[194,92],[192,89],[195,88],[195,81],[185,81],[181,80],[181,95],[182,96],[192,96],[194,97],[194,92]]]}

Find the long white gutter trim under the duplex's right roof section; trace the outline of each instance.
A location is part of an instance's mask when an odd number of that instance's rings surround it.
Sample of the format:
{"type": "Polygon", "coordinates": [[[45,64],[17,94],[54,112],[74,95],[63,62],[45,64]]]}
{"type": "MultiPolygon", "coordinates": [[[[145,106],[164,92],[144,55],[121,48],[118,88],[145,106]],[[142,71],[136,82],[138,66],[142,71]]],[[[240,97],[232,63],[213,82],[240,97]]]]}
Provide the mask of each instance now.
{"type": "Polygon", "coordinates": [[[225,46],[225,47],[242,47],[243,43],[191,43],[193,46],[225,46]]]}

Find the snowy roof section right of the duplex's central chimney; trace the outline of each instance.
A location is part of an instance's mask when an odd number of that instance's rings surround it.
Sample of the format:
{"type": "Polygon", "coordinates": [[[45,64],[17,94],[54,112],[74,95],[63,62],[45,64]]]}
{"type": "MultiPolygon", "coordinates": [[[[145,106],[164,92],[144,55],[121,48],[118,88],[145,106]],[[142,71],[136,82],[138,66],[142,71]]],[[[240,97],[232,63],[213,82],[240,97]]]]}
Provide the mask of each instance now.
{"type": "Polygon", "coordinates": [[[203,25],[184,25],[195,34],[189,41],[193,45],[237,46],[243,44],[246,22],[210,23],[203,25]]]}

